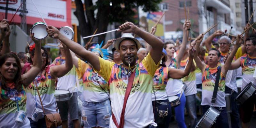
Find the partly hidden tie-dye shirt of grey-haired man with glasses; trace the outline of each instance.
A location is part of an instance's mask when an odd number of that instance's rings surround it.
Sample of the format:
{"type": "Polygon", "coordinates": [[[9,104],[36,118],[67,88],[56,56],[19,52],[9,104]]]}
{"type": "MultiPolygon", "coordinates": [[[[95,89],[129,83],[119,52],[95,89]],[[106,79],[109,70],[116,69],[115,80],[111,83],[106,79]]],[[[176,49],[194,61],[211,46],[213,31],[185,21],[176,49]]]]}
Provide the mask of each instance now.
{"type": "MultiPolygon", "coordinates": [[[[220,52],[220,66],[223,66],[224,63],[224,58],[228,55],[228,53],[222,53],[220,52]]],[[[235,62],[236,57],[233,58],[232,62],[235,62]]],[[[226,75],[226,86],[229,87],[230,89],[234,90],[237,92],[237,85],[236,85],[236,74],[237,74],[237,69],[234,70],[228,70],[227,75],[226,75]]]]}

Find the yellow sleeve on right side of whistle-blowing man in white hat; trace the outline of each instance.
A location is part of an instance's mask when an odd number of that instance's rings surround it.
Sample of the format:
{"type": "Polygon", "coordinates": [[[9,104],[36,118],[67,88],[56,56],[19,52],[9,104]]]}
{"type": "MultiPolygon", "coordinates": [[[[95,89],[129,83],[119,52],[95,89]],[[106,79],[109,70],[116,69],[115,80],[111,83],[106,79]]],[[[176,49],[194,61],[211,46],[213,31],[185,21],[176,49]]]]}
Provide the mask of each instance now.
{"type": "Polygon", "coordinates": [[[146,70],[148,71],[148,74],[154,77],[156,69],[160,64],[160,61],[156,65],[155,61],[152,59],[149,52],[148,55],[141,61],[141,63],[145,66],[146,70]]]}

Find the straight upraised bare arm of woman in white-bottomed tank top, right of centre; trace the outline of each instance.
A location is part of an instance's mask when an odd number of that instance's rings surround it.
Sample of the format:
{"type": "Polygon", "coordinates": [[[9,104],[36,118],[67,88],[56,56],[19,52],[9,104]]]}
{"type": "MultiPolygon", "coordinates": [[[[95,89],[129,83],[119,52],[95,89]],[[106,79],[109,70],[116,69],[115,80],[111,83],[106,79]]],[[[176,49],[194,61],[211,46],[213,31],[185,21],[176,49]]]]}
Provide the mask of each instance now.
{"type": "Polygon", "coordinates": [[[187,30],[190,28],[190,21],[186,21],[184,24],[183,24],[183,37],[182,37],[182,43],[181,43],[181,48],[180,48],[180,51],[177,55],[177,57],[175,58],[176,61],[177,61],[177,64],[180,65],[180,61],[185,53],[185,50],[186,50],[186,47],[187,47],[187,30]]]}

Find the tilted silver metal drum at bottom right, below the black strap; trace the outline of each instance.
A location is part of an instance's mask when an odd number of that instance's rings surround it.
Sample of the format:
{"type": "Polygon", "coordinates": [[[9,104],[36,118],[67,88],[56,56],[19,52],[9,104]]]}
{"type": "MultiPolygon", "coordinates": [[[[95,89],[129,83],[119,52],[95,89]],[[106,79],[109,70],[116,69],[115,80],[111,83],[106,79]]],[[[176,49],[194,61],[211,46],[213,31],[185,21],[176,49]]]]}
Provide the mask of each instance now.
{"type": "Polygon", "coordinates": [[[220,111],[210,107],[204,114],[204,116],[196,124],[196,128],[210,128],[216,119],[220,116],[220,111]]]}

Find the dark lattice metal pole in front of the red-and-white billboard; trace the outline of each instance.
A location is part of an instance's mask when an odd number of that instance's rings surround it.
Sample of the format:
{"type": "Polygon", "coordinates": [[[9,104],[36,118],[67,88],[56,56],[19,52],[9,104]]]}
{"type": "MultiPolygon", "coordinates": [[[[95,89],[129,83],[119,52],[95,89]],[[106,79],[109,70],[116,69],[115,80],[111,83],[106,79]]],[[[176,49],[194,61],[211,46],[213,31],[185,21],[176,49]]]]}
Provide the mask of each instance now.
{"type": "Polygon", "coordinates": [[[27,8],[26,0],[21,0],[21,11],[20,11],[20,28],[27,33],[27,8]],[[22,4],[21,4],[22,3],[22,4]]]}

